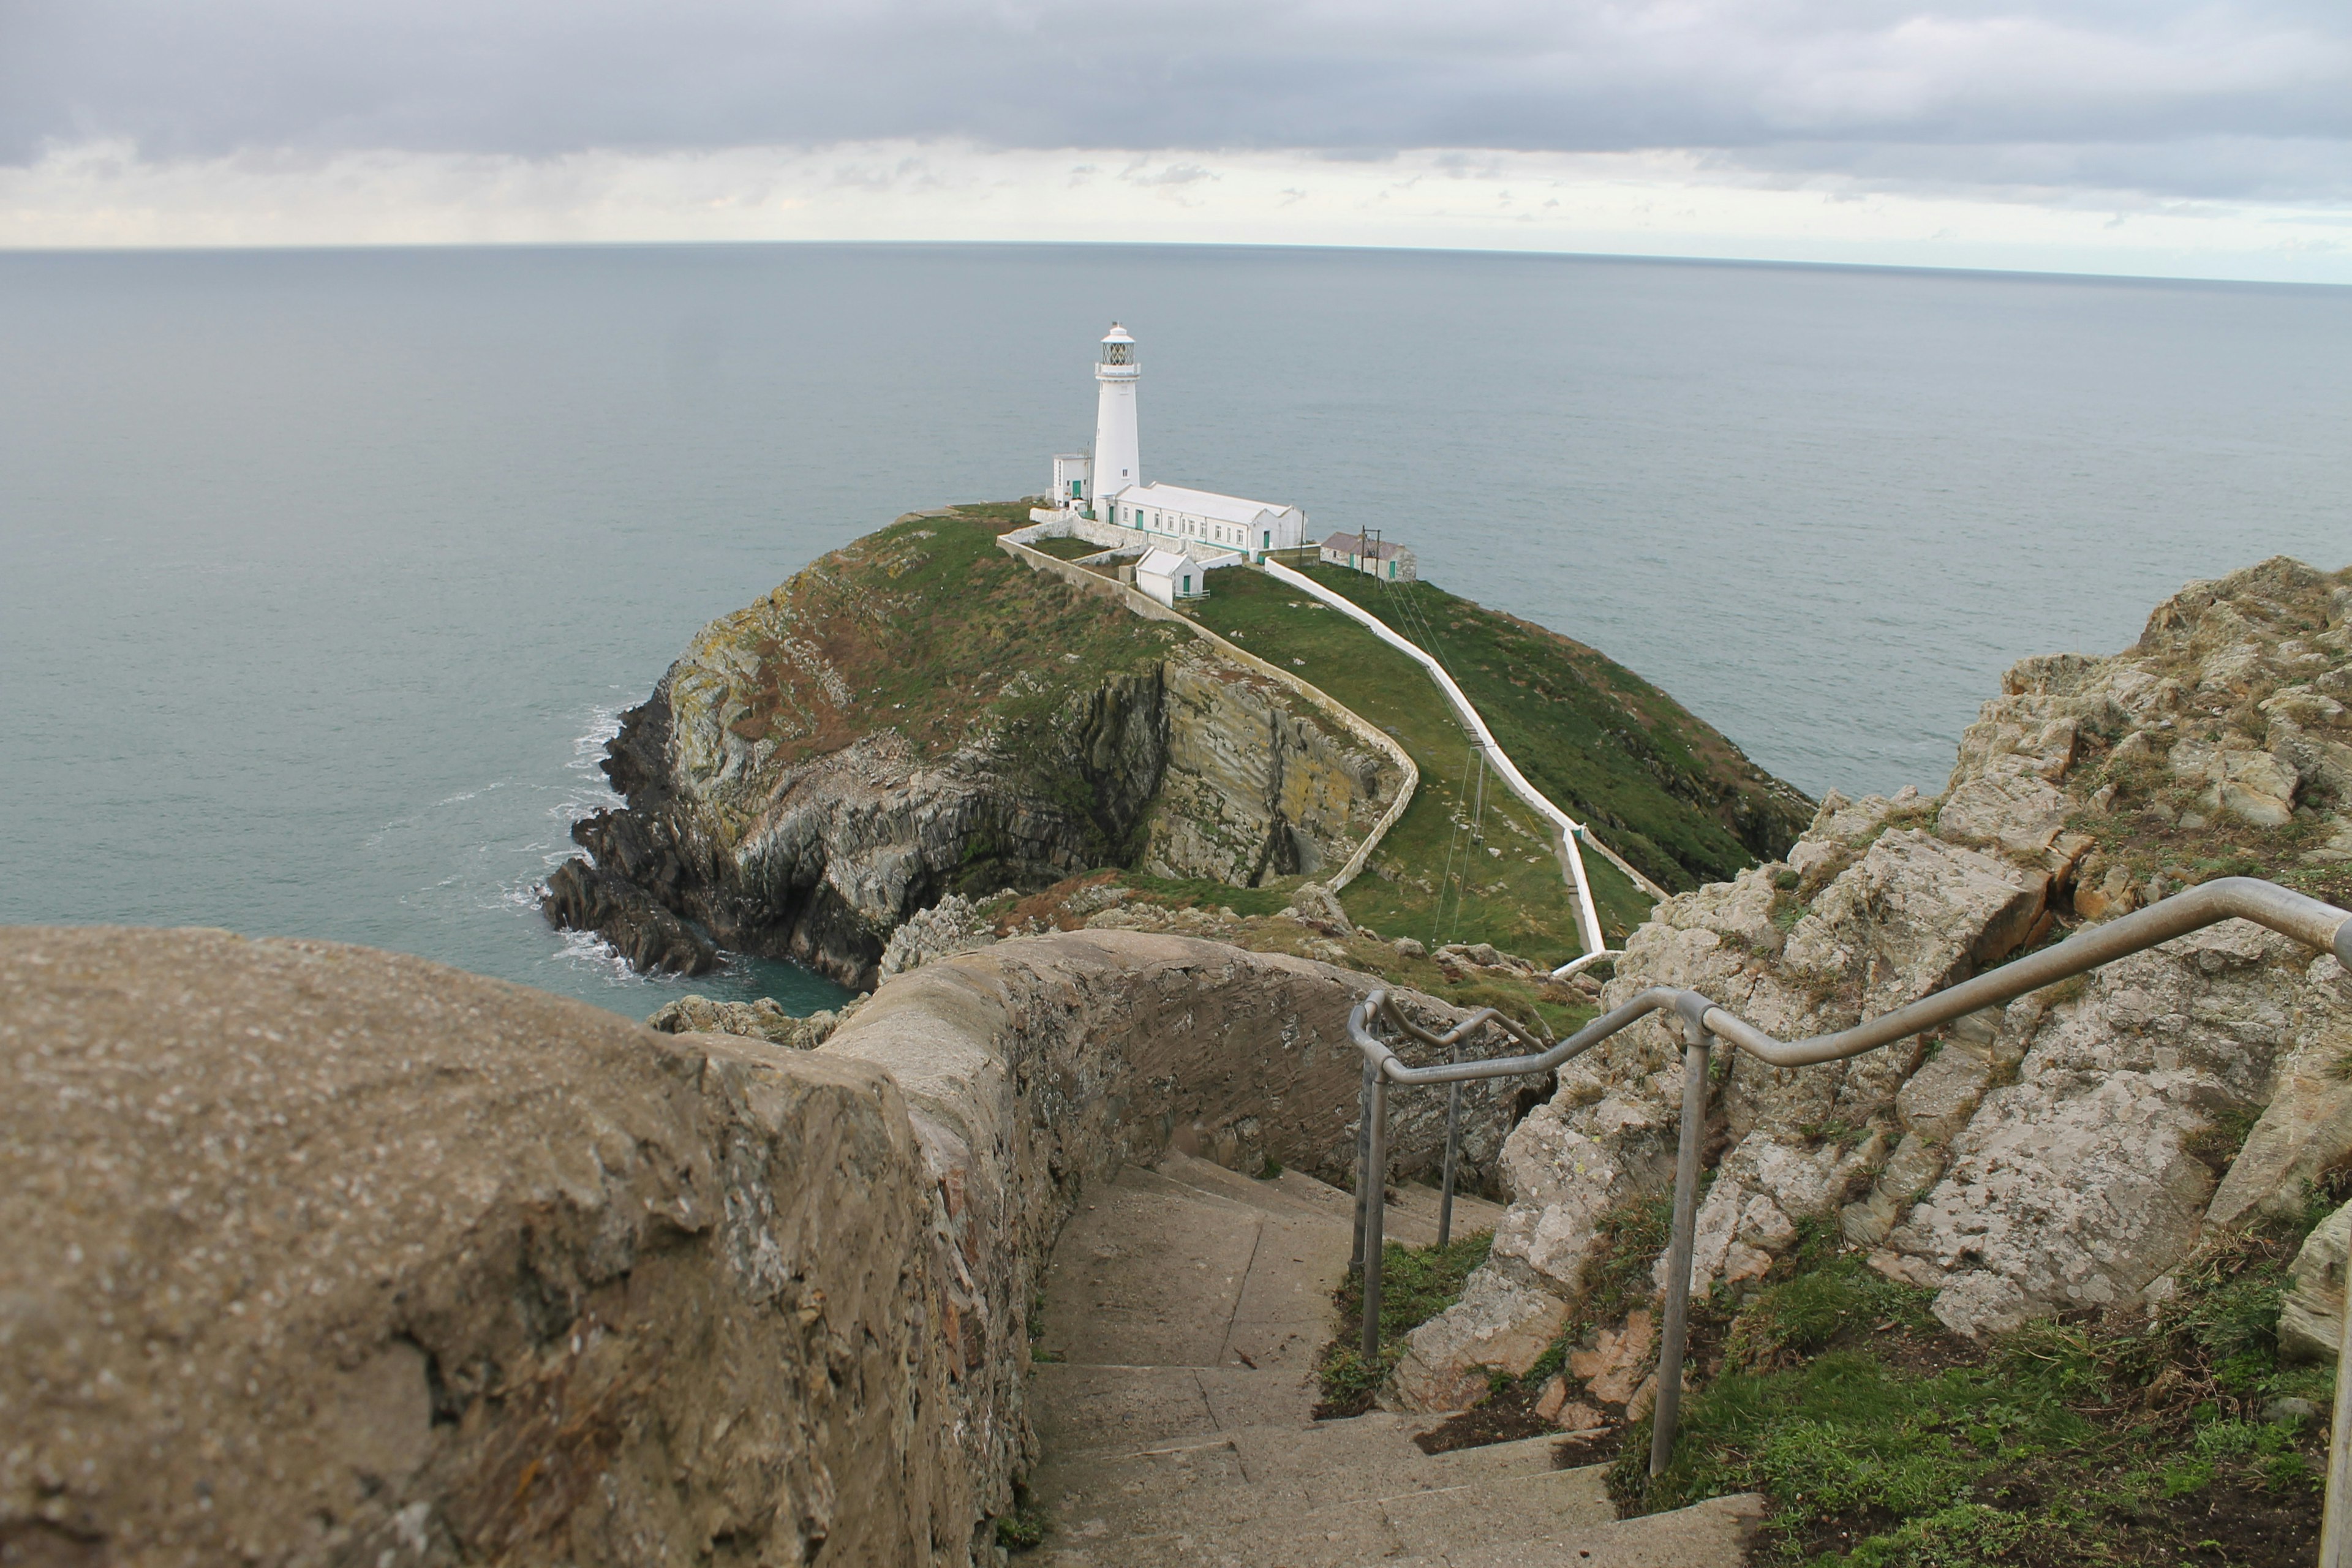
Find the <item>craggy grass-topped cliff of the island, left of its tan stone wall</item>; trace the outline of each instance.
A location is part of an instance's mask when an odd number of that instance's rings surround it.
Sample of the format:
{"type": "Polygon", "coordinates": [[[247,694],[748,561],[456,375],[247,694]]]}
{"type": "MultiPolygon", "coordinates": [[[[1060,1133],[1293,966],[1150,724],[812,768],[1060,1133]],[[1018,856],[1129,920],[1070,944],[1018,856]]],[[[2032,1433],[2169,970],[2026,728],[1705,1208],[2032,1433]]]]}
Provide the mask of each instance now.
{"type": "Polygon", "coordinates": [[[703,628],[626,715],[628,799],[574,827],[590,860],[546,907],[640,966],[717,943],[870,985],[950,891],[1096,865],[1254,884],[1336,865],[1395,769],[1178,628],[910,517],[703,628]]]}

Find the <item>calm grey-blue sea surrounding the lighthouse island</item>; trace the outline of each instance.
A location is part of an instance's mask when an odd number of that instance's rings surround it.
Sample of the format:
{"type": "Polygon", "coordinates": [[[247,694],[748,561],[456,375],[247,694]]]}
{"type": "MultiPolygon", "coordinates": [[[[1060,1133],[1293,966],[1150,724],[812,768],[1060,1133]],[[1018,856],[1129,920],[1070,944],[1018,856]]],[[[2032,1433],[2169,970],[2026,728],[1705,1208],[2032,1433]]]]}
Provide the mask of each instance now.
{"type": "MultiPolygon", "coordinates": [[[[706,618],[1145,473],[1381,527],[1825,788],[2006,663],[2352,559],[2352,289],[1282,249],[0,256],[0,922],[374,943],[628,1013],[532,886],[706,618]]],[[[833,987],[746,966],[731,994],[833,987]]]]}

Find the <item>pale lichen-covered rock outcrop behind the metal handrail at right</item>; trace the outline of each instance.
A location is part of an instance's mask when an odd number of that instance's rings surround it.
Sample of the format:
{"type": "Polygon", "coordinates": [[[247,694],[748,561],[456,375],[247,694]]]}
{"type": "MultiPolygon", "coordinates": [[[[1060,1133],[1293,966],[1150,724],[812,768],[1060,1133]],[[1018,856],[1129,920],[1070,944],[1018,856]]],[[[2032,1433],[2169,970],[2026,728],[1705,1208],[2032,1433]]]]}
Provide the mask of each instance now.
{"type": "MultiPolygon", "coordinates": [[[[2230,872],[2352,905],[2347,571],[2263,562],[2124,654],[2016,665],[1943,795],[1828,797],[1783,860],[1661,905],[1604,1001],[1677,985],[1783,1039],[1839,1030],[2230,872]]],[[[2206,1227],[2300,1213],[2352,1161],[2347,1058],[2352,976],[2244,922],[1849,1063],[1731,1056],[1696,1288],[1818,1222],[1966,1335],[2164,1295],[2206,1227]]],[[[1491,1262],[1414,1335],[1406,1401],[1463,1403],[1555,1340],[1611,1218],[1670,1187],[1677,1124],[1656,1020],[1562,1070],[1505,1147],[1491,1262]]]]}

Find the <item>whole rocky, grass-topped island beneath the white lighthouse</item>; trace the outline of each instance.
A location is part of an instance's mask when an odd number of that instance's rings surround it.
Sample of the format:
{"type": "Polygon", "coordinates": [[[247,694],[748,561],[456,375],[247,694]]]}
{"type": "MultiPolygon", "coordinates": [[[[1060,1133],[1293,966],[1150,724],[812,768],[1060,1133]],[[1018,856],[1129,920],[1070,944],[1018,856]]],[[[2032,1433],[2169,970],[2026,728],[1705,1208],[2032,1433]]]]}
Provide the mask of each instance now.
{"type": "MultiPolygon", "coordinates": [[[[1449,835],[1501,832],[1524,849],[1496,846],[1498,865],[1477,886],[1456,872],[1454,889],[1456,910],[1494,912],[1444,938],[1562,947],[1552,961],[1581,950],[1562,936],[1543,825],[1501,790],[1491,820],[1456,823],[1461,780],[1442,769],[1463,771],[1461,731],[1406,661],[1355,628],[1308,625],[1319,607],[1268,602],[1256,574],[1221,574],[1232,588],[1200,623],[1298,672],[1270,679],[1183,623],[1023,569],[995,548],[1023,522],[1021,505],[903,517],[703,628],[623,717],[604,771],[628,804],[576,825],[588,856],[550,877],[548,917],[640,969],[701,973],[731,947],[870,987],[891,933],[950,896],[1103,867],[1237,891],[1331,877],[1425,773],[1437,788],[1406,802],[1348,893],[1362,924],[1416,922],[1461,849],[1449,835]]],[[[1421,592],[1484,656],[1470,679],[1503,698],[1512,745],[1557,759],[1543,783],[1623,837],[1646,877],[1731,875],[1811,816],[1590,649],[1421,592]]],[[[1599,875],[1613,926],[1630,929],[1649,898],[1599,875]]]]}

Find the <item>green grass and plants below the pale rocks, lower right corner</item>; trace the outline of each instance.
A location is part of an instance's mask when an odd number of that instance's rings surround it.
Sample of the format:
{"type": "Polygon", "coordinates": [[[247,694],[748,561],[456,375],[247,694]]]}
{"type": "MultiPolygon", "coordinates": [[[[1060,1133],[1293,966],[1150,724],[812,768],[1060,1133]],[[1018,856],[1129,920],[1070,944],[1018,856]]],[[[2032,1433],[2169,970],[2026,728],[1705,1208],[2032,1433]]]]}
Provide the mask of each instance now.
{"type": "Polygon", "coordinates": [[[2209,1244],[2154,1321],[1971,1347],[1940,1335],[1926,1291],[1809,1234],[1766,1288],[1698,1305],[1719,1371],[1684,1401],[1665,1474],[1637,1429],[1611,1490],[1630,1512],[1759,1490],[1757,1561],[1776,1563],[2307,1561],[2326,1432],[2263,1420],[2279,1394],[2331,1396],[2328,1373],[2277,1359],[2293,1244],[2209,1244]]]}

